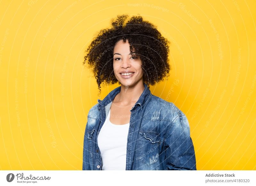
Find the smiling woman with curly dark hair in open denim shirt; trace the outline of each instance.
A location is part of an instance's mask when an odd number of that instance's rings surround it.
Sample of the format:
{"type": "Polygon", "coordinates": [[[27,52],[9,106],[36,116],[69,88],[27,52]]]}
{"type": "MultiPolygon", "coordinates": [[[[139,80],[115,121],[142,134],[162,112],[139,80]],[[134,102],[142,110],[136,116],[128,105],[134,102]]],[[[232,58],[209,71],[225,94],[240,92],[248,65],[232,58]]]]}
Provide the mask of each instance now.
{"type": "Polygon", "coordinates": [[[83,170],[196,170],[185,114],[148,88],[170,71],[169,42],[141,16],[127,18],[112,20],[84,57],[99,89],[121,86],[88,113],[83,170]]]}

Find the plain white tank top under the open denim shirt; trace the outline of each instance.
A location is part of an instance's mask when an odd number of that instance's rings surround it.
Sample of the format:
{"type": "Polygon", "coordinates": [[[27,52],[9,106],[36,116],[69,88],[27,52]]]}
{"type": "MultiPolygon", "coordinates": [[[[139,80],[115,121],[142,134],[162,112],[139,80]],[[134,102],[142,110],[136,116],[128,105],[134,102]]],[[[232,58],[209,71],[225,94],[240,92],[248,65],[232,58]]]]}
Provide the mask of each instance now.
{"type": "Polygon", "coordinates": [[[125,170],[130,123],[116,125],[111,123],[109,118],[110,110],[98,135],[102,170],[125,170]]]}

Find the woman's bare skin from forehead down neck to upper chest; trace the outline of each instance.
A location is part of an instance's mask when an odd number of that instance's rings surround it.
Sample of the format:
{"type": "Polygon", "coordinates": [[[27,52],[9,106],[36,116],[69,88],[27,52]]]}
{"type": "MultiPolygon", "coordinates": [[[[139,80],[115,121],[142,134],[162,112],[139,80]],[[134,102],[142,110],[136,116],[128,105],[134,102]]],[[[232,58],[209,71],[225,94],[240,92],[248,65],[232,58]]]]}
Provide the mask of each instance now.
{"type": "Polygon", "coordinates": [[[113,124],[123,125],[130,122],[130,110],[144,90],[141,65],[139,56],[132,57],[127,40],[116,43],[113,51],[113,68],[116,79],[121,83],[121,91],[114,98],[110,108],[110,122],[113,124]],[[131,71],[133,74],[124,76],[120,74],[123,71],[131,71]]]}

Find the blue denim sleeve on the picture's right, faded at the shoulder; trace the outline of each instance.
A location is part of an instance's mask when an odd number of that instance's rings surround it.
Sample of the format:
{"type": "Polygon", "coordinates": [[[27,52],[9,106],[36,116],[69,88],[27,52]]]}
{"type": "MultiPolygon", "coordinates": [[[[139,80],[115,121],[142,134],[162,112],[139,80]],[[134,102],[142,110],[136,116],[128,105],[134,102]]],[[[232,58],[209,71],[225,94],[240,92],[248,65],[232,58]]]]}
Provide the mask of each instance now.
{"type": "Polygon", "coordinates": [[[179,114],[164,137],[166,170],[196,170],[194,145],[188,119],[179,114]]]}

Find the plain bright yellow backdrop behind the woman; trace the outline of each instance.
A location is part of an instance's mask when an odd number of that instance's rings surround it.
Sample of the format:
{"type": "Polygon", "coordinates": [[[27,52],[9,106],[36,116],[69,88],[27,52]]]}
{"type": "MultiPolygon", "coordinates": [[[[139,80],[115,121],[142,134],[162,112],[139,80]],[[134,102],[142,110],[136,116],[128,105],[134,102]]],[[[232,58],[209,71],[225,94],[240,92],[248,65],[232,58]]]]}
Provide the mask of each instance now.
{"type": "Polygon", "coordinates": [[[151,93],[189,121],[198,170],[256,170],[256,3],[1,1],[0,169],[81,170],[98,97],[84,51],[118,14],[171,41],[171,75],[151,93]],[[134,4],[135,3],[135,4],[134,4]]]}

